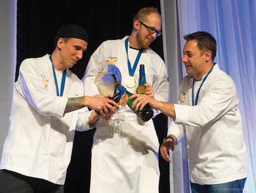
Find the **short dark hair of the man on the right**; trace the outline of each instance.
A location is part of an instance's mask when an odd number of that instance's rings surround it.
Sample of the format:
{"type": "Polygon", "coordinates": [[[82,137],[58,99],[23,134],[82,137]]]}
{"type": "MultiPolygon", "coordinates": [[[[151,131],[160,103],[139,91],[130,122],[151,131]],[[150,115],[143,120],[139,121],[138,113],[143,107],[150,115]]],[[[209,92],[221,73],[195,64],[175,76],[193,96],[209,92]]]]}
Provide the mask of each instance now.
{"type": "Polygon", "coordinates": [[[187,34],[184,35],[185,41],[191,41],[196,40],[197,41],[197,47],[201,51],[201,54],[203,54],[205,51],[211,51],[212,52],[212,61],[216,57],[216,51],[217,51],[217,43],[215,38],[212,36],[212,34],[209,34],[205,31],[197,31],[193,34],[187,34]]]}

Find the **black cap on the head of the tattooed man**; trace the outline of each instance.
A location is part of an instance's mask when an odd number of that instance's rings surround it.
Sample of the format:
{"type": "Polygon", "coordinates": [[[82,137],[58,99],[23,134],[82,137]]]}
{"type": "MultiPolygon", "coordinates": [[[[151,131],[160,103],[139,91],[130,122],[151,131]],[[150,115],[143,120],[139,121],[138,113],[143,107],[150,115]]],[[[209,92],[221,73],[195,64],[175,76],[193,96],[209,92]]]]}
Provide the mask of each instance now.
{"type": "Polygon", "coordinates": [[[59,38],[77,38],[88,43],[87,31],[84,28],[73,24],[63,25],[61,28],[59,28],[59,31],[55,37],[55,41],[58,41],[59,38]]]}

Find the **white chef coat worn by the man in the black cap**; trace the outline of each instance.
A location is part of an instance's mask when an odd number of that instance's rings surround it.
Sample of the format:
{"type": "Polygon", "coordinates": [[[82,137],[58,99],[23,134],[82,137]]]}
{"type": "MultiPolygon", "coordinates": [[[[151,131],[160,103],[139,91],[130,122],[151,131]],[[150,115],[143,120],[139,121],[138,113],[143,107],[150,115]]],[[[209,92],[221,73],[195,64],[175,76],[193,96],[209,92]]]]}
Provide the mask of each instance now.
{"type": "Polygon", "coordinates": [[[64,184],[75,129],[90,128],[87,107],[63,116],[68,98],[79,96],[84,96],[84,86],[68,68],[63,97],[57,96],[49,55],[24,60],[0,169],[64,184]]]}

